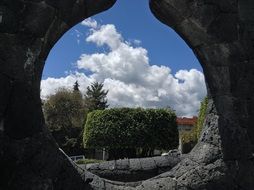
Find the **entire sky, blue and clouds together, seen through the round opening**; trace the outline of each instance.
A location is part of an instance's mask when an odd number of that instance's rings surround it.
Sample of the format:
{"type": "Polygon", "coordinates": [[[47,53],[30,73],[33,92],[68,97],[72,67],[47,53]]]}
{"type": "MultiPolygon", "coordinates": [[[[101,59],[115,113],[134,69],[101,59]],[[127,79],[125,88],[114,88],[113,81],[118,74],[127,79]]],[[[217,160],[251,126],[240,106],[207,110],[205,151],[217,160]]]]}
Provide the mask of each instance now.
{"type": "Polygon", "coordinates": [[[74,26],[51,50],[43,98],[75,80],[84,92],[99,80],[112,107],[171,106],[179,115],[196,115],[206,94],[202,68],[187,44],[152,15],[148,0],[118,0],[89,23],[74,26]]]}

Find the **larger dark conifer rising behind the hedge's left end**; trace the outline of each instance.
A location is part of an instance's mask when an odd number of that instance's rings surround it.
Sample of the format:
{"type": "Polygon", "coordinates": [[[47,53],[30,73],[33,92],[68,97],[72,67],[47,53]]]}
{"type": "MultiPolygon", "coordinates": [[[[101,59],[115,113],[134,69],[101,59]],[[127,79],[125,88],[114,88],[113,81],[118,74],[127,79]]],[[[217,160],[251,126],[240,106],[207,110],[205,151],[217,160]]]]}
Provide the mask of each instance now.
{"type": "Polygon", "coordinates": [[[103,110],[108,107],[106,96],[108,90],[103,90],[103,83],[94,82],[87,87],[85,104],[89,111],[103,110]]]}

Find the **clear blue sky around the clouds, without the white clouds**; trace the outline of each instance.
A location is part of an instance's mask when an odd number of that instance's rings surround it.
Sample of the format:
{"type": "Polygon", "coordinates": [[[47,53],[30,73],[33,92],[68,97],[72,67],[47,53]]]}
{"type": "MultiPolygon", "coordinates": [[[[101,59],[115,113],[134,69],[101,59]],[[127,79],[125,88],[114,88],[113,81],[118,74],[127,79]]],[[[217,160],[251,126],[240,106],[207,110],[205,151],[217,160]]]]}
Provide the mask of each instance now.
{"type": "MultiPolygon", "coordinates": [[[[182,38],[152,15],[148,0],[119,0],[111,9],[93,18],[102,24],[114,24],[127,40],[142,41],[142,47],[148,50],[152,64],[170,66],[173,73],[180,69],[202,70],[182,38]]],[[[83,34],[88,32],[86,27],[78,24],[57,42],[48,56],[44,79],[49,76],[63,76],[65,71],[73,69],[72,63],[82,53],[98,51],[94,44],[85,43],[84,36],[78,45],[75,30],[83,34]]]]}

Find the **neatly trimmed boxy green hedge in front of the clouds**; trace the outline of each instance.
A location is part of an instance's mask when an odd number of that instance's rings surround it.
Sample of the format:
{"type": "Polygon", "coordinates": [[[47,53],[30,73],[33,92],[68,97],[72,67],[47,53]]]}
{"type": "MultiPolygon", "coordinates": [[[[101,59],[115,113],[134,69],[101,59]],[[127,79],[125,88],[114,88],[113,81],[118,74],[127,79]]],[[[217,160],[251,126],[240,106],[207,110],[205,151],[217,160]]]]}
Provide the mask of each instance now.
{"type": "Polygon", "coordinates": [[[85,148],[177,148],[176,115],[169,109],[96,110],[87,116],[83,142],[85,148]]]}

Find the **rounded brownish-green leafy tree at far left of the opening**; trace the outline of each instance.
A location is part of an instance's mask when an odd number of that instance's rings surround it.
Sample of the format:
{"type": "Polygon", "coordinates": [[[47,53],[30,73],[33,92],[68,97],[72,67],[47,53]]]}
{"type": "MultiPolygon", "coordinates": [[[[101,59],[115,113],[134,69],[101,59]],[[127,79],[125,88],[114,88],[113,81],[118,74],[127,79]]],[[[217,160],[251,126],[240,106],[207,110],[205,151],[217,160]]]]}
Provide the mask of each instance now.
{"type": "Polygon", "coordinates": [[[43,105],[46,125],[58,145],[69,155],[81,154],[84,116],[87,111],[80,93],[59,89],[43,105]]]}

